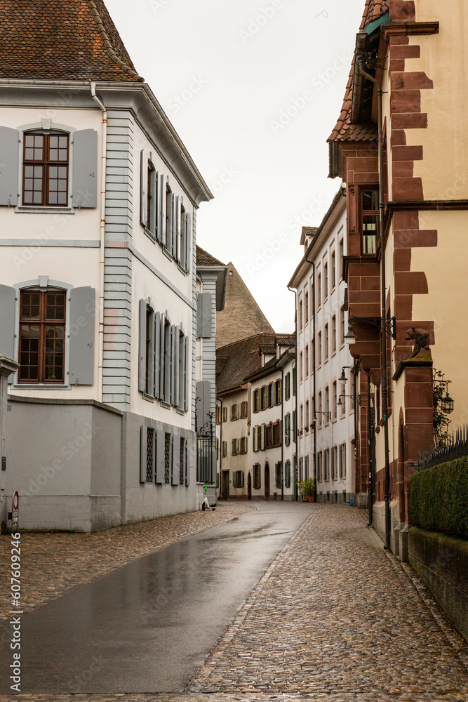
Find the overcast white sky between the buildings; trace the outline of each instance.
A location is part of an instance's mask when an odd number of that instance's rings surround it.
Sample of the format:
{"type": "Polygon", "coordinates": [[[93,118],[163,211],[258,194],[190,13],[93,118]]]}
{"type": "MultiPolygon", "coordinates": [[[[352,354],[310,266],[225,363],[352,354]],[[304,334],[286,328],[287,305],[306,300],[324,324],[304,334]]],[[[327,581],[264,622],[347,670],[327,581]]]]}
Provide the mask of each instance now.
{"type": "Polygon", "coordinates": [[[106,4],[215,194],[199,210],[199,245],[234,263],[275,331],[292,332],[300,230],[320,224],[340,187],[326,139],[364,0],[106,4]]]}

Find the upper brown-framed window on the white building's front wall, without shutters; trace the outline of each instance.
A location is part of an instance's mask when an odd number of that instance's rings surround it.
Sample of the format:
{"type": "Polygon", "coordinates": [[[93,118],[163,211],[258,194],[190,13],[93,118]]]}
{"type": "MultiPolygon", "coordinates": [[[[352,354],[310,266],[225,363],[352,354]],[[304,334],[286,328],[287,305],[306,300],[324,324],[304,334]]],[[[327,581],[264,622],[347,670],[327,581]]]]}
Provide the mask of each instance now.
{"type": "Polygon", "coordinates": [[[63,132],[25,133],[22,204],[68,205],[69,135],[63,132]]]}

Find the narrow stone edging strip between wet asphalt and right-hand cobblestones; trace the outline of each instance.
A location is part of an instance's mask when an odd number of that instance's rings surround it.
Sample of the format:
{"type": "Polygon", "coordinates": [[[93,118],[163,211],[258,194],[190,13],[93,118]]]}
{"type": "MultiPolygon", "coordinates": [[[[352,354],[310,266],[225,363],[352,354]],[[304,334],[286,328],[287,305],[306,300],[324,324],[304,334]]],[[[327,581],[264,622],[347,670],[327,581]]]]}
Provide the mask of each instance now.
{"type": "MultiPolygon", "coordinates": [[[[192,678],[192,681],[189,682],[187,687],[185,688],[185,692],[187,693],[201,693],[203,690],[203,685],[205,684],[206,680],[208,680],[208,677],[210,673],[213,671],[215,668],[215,665],[218,663],[218,658],[221,658],[223,652],[225,649],[227,649],[228,645],[232,642],[234,637],[236,636],[237,633],[239,633],[239,630],[241,629],[241,625],[243,624],[243,621],[245,620],[246,616],[248,615],[249,610],[254,606],[255,602],[258,600],[258,597],[262,593],[262,590],[265,588],[265,585],[269,581],[269,578],[271,578],[273,571],[276,569],[276,567],[283,563],[287,556],[288,556],[288,551],[294,548],[295,545],[295,540],[297,537],[300,536],[301,532],[307,529],[307,526],[309,522],[314,519],[319,513],[321,512],[320,508],[315,508],[314,512],[310,517],[308,517],[305,522],[303,522],[299,529],[295,531],[293,536],[291,536],[290,540],[288,543],[286,543],[281,551],[274,557],[272,562],[269,564],[269,567],[265,571],[265,573],[262,575],[260,578],[260,581],[258,581],[257,585],[255,585],[255,588],[253,588],[252,592],[250,592],[250,595],[248,596],[246,602],[244,602],[243,605],[241,605],[238,613],[234,617],[234,620],[229,624],[227,629],[225,630],[225,633],[223,633],[220,638],[218,639],[218,642],[215,643],[213,649],[211,649],[210,653],[208,654],[208,657],[206,658],[205,663],[199,668],[198,672],[194,675],[192,678]]],[[[215,699],[213,697],[213,692],[208,693],[210,695],[211,699],[215,699]]],[[[221,692],[218,694],[222,694],[221,692]]],[[[250,693],[249,693],[250,694],[250,693]]],[[[262,694],[262,693],[259,693],[262,694]]],[[[245,693],[244,693],[245,695],[245,693]]],[[[261,699],[261,697],[259,697],[261,699]]],[[[273,696],[273,694],[270,695],[271,699],[288,699],[288,697],[285,697],[283,694],[276,693],[276,696],[273,696]]],[[[290,699],[297,699],[297,697],[289,697],[290,699]]],[[[244,696],[243,699],[247,702],[246,697],[244,696]]],[[[1,700],[0,700],[1,702],[1,700]]]]}

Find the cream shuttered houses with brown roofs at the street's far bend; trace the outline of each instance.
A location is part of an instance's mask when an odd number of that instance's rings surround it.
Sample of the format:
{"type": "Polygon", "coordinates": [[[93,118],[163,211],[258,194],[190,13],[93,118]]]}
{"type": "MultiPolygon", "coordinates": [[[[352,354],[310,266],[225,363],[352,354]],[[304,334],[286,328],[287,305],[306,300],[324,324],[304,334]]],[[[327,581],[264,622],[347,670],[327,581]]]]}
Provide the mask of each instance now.
{"type": "Polygon", "coordinates": [[[221,499],[293,500],[295,338],[261,334],[218,349],[221,499]]]}

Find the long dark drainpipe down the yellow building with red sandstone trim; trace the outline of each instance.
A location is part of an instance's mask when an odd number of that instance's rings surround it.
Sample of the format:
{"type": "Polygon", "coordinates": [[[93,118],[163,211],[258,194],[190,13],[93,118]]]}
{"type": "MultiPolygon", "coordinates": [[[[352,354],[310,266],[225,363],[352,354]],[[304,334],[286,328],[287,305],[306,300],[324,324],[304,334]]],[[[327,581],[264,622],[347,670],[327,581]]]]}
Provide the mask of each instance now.
{"type": "Polygon", "coordinates": [[[385,444],[385,546],[390,548],[390,463],[389,463],[389,426],[388,426],[388,378],[387,378],[387,331],[385,322],[387,320],[387,284],[385,271],[385,200],[384,200],[384,137],[383,137],[383,110],[382,110],[382,84],[377,79],[370,76],[363,67],[363,58],[359,58],[359,71],[364,78],[367,78],[377,87],[377,127],[379,145],[379,226],[380,226],[380,292],[381,292],[381,316],[382,331],[381,355],[382,355],[382,410],[384,415],[384,444],[385,444]]]}

